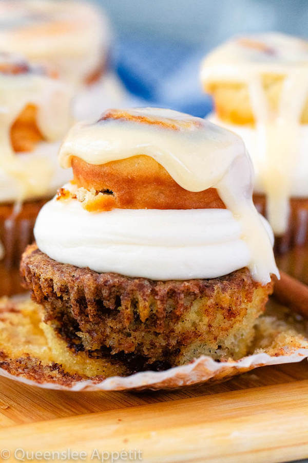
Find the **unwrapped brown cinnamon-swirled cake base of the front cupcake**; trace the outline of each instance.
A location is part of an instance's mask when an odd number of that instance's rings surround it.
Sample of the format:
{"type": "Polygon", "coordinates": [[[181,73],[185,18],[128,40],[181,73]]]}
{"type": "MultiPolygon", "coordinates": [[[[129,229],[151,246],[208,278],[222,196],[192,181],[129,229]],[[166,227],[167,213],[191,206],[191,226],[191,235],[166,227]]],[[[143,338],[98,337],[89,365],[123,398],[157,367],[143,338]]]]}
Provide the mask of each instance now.
{"type": "Polygon", "coordinates": [[[44,305],[45,321],[70,348],[97,358],[120,354],[139,362],[136,369],[181,365],[201,354],[242,357],[273,290],[248,269],[186,281],[99,274],[56,262],[35,244],[23,255],[21,274],[44,305]]]}

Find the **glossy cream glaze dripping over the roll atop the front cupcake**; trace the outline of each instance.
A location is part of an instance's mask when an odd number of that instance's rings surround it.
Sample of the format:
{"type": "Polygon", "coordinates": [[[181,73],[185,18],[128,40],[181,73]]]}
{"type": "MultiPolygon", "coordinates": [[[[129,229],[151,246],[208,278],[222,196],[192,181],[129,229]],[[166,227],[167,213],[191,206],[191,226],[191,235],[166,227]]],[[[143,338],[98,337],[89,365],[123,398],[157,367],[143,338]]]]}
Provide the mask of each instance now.
{"type": "MultiPolygon", "coordinates": [[[[253,169],[241,138],[203,119],[171,110],[127,111],[139,120],[105,120],[103,115],[97,123],[76,124],[60,150],[62,167],[70,167],[73,156],[100,165],[144,154],[156,159],[188,191],[214,187],[240,225],[253,278],[265,284],[271,274],[278,275],[271,241],[252,202],[253,169]],[[144,118],[149,123],[140,122],[144,118]],[[164,128],[157,120],[174,128],[164,128]]],[[[185,211],[181,212],[184,217],[185,211]]],[[[83,252],[86,256],[86,248],[83,252]]],[[[134,259],[133,254],[130,259],[134,259]]]]}

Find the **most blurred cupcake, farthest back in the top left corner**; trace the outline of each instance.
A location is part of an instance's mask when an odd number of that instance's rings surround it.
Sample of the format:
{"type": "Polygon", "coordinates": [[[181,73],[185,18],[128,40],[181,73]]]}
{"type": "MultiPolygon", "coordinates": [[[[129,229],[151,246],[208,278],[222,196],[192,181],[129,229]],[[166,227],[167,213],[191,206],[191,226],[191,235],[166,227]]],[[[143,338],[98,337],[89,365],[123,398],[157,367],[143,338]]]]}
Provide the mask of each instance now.
{"type": "Polygon", "coordinates": [[[0,51],[55,69],[75,89],[76,118],[95,117],[98,105],[101,111],[106,101],[115,104],[123,97],[120,84],[108,73],[110,45],[107,17],[90,2],[0,2],[0,51]]]}

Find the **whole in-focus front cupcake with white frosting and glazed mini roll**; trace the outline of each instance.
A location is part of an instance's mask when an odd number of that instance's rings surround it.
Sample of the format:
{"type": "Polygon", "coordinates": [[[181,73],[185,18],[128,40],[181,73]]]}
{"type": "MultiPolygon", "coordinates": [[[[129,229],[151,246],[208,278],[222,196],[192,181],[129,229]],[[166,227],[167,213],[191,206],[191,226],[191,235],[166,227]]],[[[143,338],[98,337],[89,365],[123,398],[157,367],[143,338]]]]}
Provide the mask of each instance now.
{"type": "Polygon", "coordinates": [[[238,359],[273,289],[271,228],[240,137],[161,109],[110,110],[61,150],[25,287],[69,349],[134,369],[238,359]]]}

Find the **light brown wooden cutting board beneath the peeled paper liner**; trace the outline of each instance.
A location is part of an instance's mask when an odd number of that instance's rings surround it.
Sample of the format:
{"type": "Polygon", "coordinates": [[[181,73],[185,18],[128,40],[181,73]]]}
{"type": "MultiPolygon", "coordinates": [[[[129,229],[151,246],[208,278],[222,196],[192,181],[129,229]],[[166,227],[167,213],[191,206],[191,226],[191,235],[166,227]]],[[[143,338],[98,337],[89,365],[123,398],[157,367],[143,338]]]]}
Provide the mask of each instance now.
{"type": "MultiPolygon", "coordinates": [[[[279,264],[308,282],[308,252],[289,253],[279,264]]],[[[64,451],[67,461],[111,461],[111,452],[114,461],[155,463],[305,458],[308,362],[258,368],[216,385],[143,393],[70,393],[1,378],[0,461],[16,461],[15,449],[64,451]],[[73,459],[73,451],[84,452],[83,459],[73,459]]]]}

